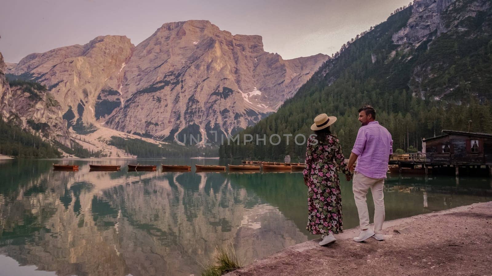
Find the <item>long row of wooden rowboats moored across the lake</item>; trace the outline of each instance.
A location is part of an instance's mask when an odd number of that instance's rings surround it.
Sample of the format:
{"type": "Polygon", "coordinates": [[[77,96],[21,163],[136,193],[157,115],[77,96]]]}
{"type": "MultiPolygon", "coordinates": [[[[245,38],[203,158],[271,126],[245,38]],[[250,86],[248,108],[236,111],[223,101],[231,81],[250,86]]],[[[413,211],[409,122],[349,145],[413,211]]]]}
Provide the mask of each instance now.
{"type": "MultiPolygon", "coordinates": [[[[259,161],[243,161],[243,165],[195,165],[197,171],[221,171],[226,170],[300,170],[304,169],[306,166],[303,163],[277,163],[277,162],[259,162],[259,161]]],[[[173,171],[173,170],[191,170],[191,166],[187,165],[160,165],[162,170],[173,171]]],[[[120,165],[92,165],[89,167],[91,171],[118,171],[120,170],[120,165]]],[[[79,170],[77,165],[57,165],[53,164],[53,168],[56,170],[79,170]]],[[[155,171],[157,166],[155,165],[131,165],[128,164],[128,171],[155,171]]]]}

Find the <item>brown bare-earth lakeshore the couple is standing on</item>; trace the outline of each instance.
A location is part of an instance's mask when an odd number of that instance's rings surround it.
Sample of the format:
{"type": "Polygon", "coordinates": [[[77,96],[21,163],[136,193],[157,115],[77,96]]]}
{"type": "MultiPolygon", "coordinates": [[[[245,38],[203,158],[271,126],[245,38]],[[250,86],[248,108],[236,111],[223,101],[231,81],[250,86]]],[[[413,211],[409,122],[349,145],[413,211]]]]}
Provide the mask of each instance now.
{"type": "Polygon", "coordinates": [[[492,201],[475,203],[387,221],[385,241],[356,243],[353,228],[331,246],[308,241],[227,275],[491,275],[491,226],[492,201]]]}

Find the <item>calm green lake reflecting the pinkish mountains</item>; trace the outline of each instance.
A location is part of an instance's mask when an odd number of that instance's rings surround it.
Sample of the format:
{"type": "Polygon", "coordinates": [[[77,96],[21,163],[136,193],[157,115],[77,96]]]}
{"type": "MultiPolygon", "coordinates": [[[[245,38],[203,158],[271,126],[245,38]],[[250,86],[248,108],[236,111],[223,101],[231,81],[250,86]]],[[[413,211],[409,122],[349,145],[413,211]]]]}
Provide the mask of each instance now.
{"type": "MultiPolygon", "coordinates": [[[[319,236],[306,231],[302,172],[129,172],[214,159],[0,161],[0,275],[199,275],[216,247],[244,265],[319,236]],[[54,171],[52,163],[79,165],[54,171]],[[118,172],[89,164],[122,165],[118,172]]],[[[234,161],[233,164],[238,164],[234,161]]],[[[343,177],[342,177],[343,178],[343,177]]],[[[386,220],[492,200],[490,178],[390,176],[386,220]]],[[[340,182],[344,228],[358,225],[340,182]]],[[[373,215],[368,194],[369,212],[373,215]]]]}

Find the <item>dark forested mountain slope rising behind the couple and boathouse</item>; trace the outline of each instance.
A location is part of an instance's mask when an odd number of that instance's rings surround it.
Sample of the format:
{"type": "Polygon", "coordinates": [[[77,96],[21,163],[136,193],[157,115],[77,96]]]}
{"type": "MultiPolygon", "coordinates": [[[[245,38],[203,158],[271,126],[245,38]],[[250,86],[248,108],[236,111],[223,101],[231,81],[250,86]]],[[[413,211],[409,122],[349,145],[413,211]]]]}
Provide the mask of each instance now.
{"type": "MultiPolygon", "coordinates": [[[[417,0],[344,44],[293,98],[240,138],[307,136],[313,118],[329,113],[338,116],[332,130],[348,157],[359,128],[357,110],[370,104],[395,150],[417,150],[422,138],[442,129],[492,133],[491,85],[491,2],[417,0]]],[[[277,146],[225,143],[220,156],[304,159],[305,144],[296,145],[293,137],[277,146]]]]}

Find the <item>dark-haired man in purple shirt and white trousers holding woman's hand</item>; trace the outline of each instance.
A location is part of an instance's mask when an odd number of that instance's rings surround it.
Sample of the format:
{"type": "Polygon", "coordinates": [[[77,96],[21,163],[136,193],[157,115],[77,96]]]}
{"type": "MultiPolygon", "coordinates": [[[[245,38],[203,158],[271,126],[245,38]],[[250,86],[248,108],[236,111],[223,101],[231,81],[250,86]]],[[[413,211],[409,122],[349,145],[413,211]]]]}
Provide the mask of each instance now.
{"type": "Polygon", "coordinates": [[[359,129],[348,161],[348,167],[353,170],[355,161],[359,159],[355,167],[352,190],[359,212],[361,232],[354,241],[363,242],[372,236],[382,241],[384,240],[383,188],[389,157],[393,154],[393,140],[388,130],[376,121],[376,110],[371,106],[359,109],[359,121],[362,127],[359,129]],[[369,211],[366,202],[369,188],[374,200],[374,230],[369,229],[369,211]]]}

